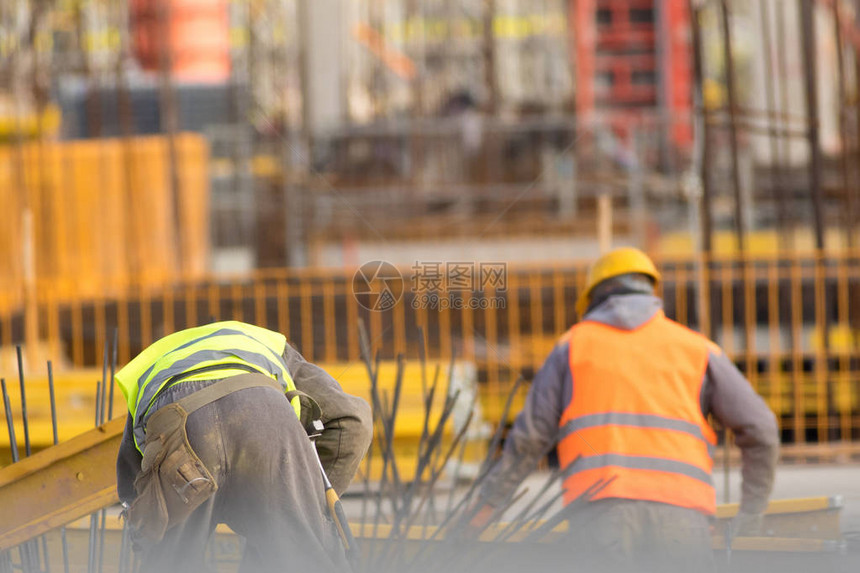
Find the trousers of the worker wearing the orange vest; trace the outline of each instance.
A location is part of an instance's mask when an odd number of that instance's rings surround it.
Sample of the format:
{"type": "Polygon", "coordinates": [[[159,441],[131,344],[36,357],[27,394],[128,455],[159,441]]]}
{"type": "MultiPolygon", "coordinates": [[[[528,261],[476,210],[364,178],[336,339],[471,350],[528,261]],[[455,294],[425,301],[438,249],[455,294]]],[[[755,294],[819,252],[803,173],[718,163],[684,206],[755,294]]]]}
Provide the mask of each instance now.
{"type": "Polygon", "coordinates": [[[609,573],[715,571],[708,517],[683,507],[602,499],[577,509],[565,541],[577,570],[609,573]]]}

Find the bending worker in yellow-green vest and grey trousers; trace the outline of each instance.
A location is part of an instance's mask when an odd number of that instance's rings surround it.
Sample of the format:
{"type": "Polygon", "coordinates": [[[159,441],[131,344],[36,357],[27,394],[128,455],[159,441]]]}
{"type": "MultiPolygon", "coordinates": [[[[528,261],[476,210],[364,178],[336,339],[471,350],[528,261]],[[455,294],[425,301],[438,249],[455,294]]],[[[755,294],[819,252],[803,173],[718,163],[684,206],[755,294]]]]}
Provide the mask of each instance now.
{"type": "Polygon", "coordinates": [[[324,423],[316,448],[343,492],[370,445],[364,400],[241,322],[166,336],[116,378],[129,409],[117,490],[142,571],[207,570],[218,523],[246,539],[242,572],[346,570],[308,429],[324,423]]]}

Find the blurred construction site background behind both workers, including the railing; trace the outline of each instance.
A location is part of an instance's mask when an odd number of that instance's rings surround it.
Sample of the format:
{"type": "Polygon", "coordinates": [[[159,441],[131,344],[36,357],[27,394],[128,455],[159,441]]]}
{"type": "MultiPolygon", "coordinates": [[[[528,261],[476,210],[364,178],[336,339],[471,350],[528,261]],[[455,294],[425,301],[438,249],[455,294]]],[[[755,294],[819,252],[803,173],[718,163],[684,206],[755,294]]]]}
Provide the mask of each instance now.
{"type": "Polygon", "coordinates": [[[844,1],[4,2],[0,370],[212,318],[337,365],[362,319],[385,359],[420,326],[474,364],[498,417],[584,262],[632,244],[786,443],[853,452],[858,45],[844,1]],[[372,260],[385,312],[355,297],[372,260]],[[453,261],[504,283],[418,288],[453,261]]]}

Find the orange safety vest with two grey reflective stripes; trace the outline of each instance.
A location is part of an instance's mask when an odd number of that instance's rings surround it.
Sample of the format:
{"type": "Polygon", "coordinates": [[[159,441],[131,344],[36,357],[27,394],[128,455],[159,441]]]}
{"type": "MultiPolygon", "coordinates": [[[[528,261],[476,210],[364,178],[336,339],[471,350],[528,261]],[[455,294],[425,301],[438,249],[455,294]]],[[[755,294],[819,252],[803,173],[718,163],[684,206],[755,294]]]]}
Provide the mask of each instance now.
{"type": "Polygon", "coordinates": [[[581,322],[568,331],[573,393],[559,422],[564,499],[615,478],[592,499],[657,501],[716,511],[716,435],[699,394],[719,348],[659,311],[629,331],[581,322]]]}

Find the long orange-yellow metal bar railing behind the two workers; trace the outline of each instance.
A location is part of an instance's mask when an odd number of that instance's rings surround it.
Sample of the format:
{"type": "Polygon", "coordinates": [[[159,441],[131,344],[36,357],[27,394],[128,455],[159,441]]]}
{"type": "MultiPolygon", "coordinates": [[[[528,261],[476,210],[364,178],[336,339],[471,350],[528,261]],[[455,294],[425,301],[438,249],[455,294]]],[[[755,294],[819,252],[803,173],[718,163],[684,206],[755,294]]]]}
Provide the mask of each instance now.
{"type": "MultiPolygon", "coordinates": [[[[667,314],[723,347],[778,414],[785,441],[860,437],[860,253],[659,263],[667,314]]],[[[236,319],[283,332],[308,360],[331,364],[360,360],[360,322],[383,360],[398,353],[416,360],[420,327],[429,360],[476,365],[485,413],[497,419],[518,374],[530,379],[575,322],[584,270],[507,266],[495,284],[430,293],[416,287],[418,271],[403,268],[402,298],[383,312],[359,304],[352,270],[149,285],[121,299],[64,302],[40,292],[38,338],[44,358],[62,370],[100,366],[114,329],[123,364],[163,334],[236,319]]],[[[15,366],[8,349],[24,340],[24,317],[23,309],[0,316],[0,371],[9,379],[15,366]]]]}

